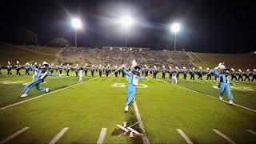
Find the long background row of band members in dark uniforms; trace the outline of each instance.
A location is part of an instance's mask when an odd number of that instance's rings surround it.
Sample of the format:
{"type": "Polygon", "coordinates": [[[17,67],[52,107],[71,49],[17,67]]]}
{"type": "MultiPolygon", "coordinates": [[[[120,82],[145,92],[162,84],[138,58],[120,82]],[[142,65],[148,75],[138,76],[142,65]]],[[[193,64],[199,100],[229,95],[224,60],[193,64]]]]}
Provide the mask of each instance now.
{"type": "MultiPolygon", "coordinates": [[[[36,66],[39,70],[42,68],[42,65],[39,64],[37,65],[37,62],[34,63],[34,66],[36,66]]],[[[56,73],[58,74],[66,74],[67,77],[70,76],[70,72],[75,72],[76,77],[79,77],[79,75],[84,74],[87,77],[88,72],[90,72],[91,76],[94,77],[95,73],[98,73],[98,75],[100,77],[102,77],[102,74],[106,74],[106,77],[109,77],[110,74],[112,72],[114,72],[114,76],[116,78],[118,78],[118,74],[122,73],[122,78],[125,78],[125,75],[121,69],[118,69],[119,66],[111,66],[106,65],[106,66],[102,66],[101,64],[99,65],[91,65],[89,66],[89,64],[86,63],[85,66],[79,66],[78,64],[76,64],[75,66],[66,64],[63,65],[62,63],[59,65],[54,65],[54,63],[52,63],[51,65],[49,65],[48,70],[50,71],[51,74],[54,73],[54,70],[56,73]],[[82,72],[79,72],[81,71],[82,72]]],[[[29,66],[21,66],[19,64],[19,62],[17,61],[17,64],[15,66],[12,66],[10,64],[10,62],[8,61],[8,65],[6,66],[0,66],[0,76],[2,75],[1,69],[2,68],[6,68],[7,70],[7,76],[12,75],[12,69],[16,70],[16,76],[21,76],[21,72],[20,70],[24,69],[25,70],[25,75],[30,75],[31,71],[34,71],[32,69],[30,69],[29,66]]],[[[130,70],[130,67],[128,67],[128,70],[130,70]]],[[[199,66],[198,68],[190,68],[190,69],[186,69],[185,66],[183,66],[182,68],[179,68],[178,66],[172,68],[170,66],[168,66],[168,68],[166,68],[166,66],[162,66],[162,68],[159,68],[157,66],[142,66],[142,75],[144,75],[145,77],[148,77],[149,74],[153,74],[153,78],[157,78],[158,74],[162,74],[162,79],[166,79],[166,78],[170,78],[174,80],[174,83],[177,83],[177,80],[180,79],[179,74],[183,75],[183,80],[186,80],[187,78],[187,74],[190,74],[190,80],[194,80],[195,77],[198,80],[203,80],[202,77],[206,76],[206,81],[210,81],[210,80],[215,80],[217,79],[217,76],[214,75],[214,70],[210,70],[209,67],[207,67],[205,70],[202,69],[201,66],[199,66]],[[167,75],[168,74],[168,75],[167,75]]],[[[246,70],[246,71],[242,71],[240,69],[238,70],[234,70],[234,68],[230,69],[230,80],[233,81],[235,80],[236,82],[254,82],[254,80],[256,80],[256,69],[254,70],[246,70]]]]}

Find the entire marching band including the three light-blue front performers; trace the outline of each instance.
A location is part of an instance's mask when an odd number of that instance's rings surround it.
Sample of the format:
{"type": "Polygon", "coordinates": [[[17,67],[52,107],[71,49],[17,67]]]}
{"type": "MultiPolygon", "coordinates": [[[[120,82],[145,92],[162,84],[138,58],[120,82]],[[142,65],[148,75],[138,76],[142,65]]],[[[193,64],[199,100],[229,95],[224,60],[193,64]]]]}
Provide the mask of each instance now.
{"type": "MultiPolygon", "coordinates": [[[[14,66],[14,69],[16,70],[16,76],[21,76],[20,70],[25,70],[25,75],[30,75],[30,72],[32,71],[33,74],[33,82],[30,82],[26,85],[25,89],[22,92],[21,98],[25,98],[28,96],[28,93],[32,87],[35,87],[37,90],[42,92],[49,92],[50,88],[42,88],[39,85],[44,82],[45,78],[47,76],[55,76],[55,75],[63,75],[66,73],[66,77],[70,76],[70,72],[74,72],[75,76],[79,78],[78,82],[82,82],[82,77],[86,76],[88,74],[88,71],[90,71],[91,77],[95,76],[95,73],[98,72],[99,77],[102,78],[102,74],[106,74],[106,77],[110,77],[111,74],[114,74],[115,78],[118,78],[118,74],[122,73],[122,78],[125,78],[127,75],[128,78],[128,90],[127,90],[127,98],[126,98],[126,106],[125,106],[125,112],[128,111],[130,105],[135,100],[135,94],[138,89],[138,81],[140,79],[147,79],[149,74],[153,74],[153,78],[157,78],[158,73],[162,73],[162,79],[166,79],[166,74],[169,74],[169,78],[171,79],[173,84],[177,85],[177,81],[179,79],[179,74],[183,75],[183,80],[186,80],[187,74],[190,74],[190,80],[194,81],[195,75],[197,76],[197,79],[202,81],[203,77],[206,76],[206,81],[210,80],[216,80],[218,82],[218,88],[220,89],[220,99],[223,99],[223,95],[226,93],[228,95],[228,99],[230,102],[230,105],[233,105],[233,95],[230,90],[230,84],[234,85],[233,80],[236,82],[254,82],[254,79],[256,79],[256,69],[254,69],[252,72],[248,69],[245,72],[238,69],[238,71],[234,70],[233,68],[228,69],[224,65],[224,63],[219,63],[217,67],[214,68],[214,70],[210,70],[210,68],[206,68],[206,70],[202,70],[202,67],[199,66],[198,69],[191,68],[189,70],[186,69],[186,67],[182,67],[180,69],[178,66],[176,66],[174,69],[172,67],[166,68],[166,66],[162,66],[162,68],[158,68],[157,66],[142,66],[139,67],[137,65],[137,62],[133,60],[132,65],[127,66],[102,66],[102,65],[91,65],[89,66],[87,63],[85,66],[79,66],[76,64],[75,66],[66,64],[63,65],[62,63],[60,65],[55,65],[52,63],[51,65],[47,62],[42,62],[41,64],[37,64],[37,62],[34,62],[34,64],[31,64],[31,62],[26,62],[25,65],[21,66],[20,63],[17,61],[17,64],[14,66]],[[57,74],[54,74],[55,73],[57,74]],[[142,75],[144,76],[141,76],[142,75]],[[212,78],[212,76],[214,78],[212,78]],[[231,78],[229,78],[231,76],[231,78]],[[252,78],[251,78],[252,77],[252,78]]],[[[7,70],[7,76],[12,75],[12,68],[10,62],[8,62],[8,65],[5,66],[7,70]]],[[[0,66],[0,74],[2,75],[2,66],[0,66]]]]}

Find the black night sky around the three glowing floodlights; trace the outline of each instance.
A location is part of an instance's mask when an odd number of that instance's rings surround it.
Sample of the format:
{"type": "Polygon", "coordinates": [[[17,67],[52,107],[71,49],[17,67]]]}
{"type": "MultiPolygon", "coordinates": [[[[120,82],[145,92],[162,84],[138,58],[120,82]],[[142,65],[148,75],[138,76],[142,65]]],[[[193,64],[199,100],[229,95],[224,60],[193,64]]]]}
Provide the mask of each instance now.
{"type": "Polygon", "coordinates": [[[256,50],[253,1],[1,1],[0,41],[26,27],[38,34],[38,44],[66,38],[74,45],[72,17],[79,17],[78,46],[125,46],[125,30],[114,21],[124,14],[136,19],[128,28],[127,46],[153,50],[174,46],[169,26],[179,22],[177,49],[238,53],[256,50]]]}

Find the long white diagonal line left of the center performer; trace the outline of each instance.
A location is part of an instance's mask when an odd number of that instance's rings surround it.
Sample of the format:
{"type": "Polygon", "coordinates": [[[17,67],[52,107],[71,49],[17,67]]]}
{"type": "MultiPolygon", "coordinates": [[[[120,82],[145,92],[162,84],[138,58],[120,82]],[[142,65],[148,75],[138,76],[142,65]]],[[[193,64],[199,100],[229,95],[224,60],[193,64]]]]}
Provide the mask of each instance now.
{"type": "MultiPolygon", "coordinates": [[[[97,79],[97,78],[99,78],[99,77],[91,78],[91,79],[89,79],[88,81],[85,81],[85,82],[89,82],[89,81],[92,81],[92,80],[97,79]]],[[[43,97],[43,96],[45,96],[45,95],[47,95],[47,94],[53,94],[53,93],[55,93],[55,92],[57,92],[57,91],[60,91],[60,90],[65,90],[65,89],[70,88],[70,87],[73,87],[73,86],[78,86],[78,85],[80,85],[80,84],[82,84],[82,83],[83,83],[83,82],[80,82],[80,83],[77,83],[77,84],[74,84],[74,85],[71,85],[71,86],[66,86],[66,87],[64,87],[64,88],[62,88],[62,89],[54,90],[54,91],[52,91],[52,92],[49,92],[49,93],[46,93],[46,94],[42,94],[42,95],[39,95],[39,96],[34,97],[34,98],[30,98],[30,99],[27,99],[27,100],[22,101],[22,102],[17,102],[17,103],[11,104],[11,105],[9,105],[9,106],[4,106],[4,107],[1,107],[0,110],[4,110],[4,109],[6,109],[6,108],[8,108],[8,107],[11,107],[11,106],[16,106],[16,105],[21,104],[21,103],[23,103],[23,102],[31,101],[31,100],[36,99],[36,98],[41,98],[41,97],[43,97]]]]}

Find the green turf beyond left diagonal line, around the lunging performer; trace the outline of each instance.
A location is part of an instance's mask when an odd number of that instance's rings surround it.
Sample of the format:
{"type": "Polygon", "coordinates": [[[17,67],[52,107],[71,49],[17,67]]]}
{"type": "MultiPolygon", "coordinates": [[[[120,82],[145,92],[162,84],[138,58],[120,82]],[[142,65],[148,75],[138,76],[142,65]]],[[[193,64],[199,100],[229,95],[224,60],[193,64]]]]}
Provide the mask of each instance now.
{"type": "MultiPolygon", "coordinates": [[[[2,73],[4,73],[3,76],[0,76],[0,91],[1,91],[1,97],[0,97],[0,107],[8,106],[10,104],[14,104],[16,102],[21,102],[23,100],[34,98],[38,95],[41,95],[42,92],[36,90],[35,88],[32,88],[30,90],[30,97],[28,98],[18,98],[22,91],[24,90],[26,85],[22,85],[22,83],[28,83],[32,82],[32,75],[33,71],[30,72],[31,76],[25,76],[25,70],[21,70],[22,76],[16,77],[14,74],[10,77],[6,76],[6,70],[2,70],[2,73]],[[21,82],[16,84],[2,84],[2,82],[21,82]]],[[[64,70],[63,70],[64,71],[64,70]]],[[[16,72],[15,72],[16,73],[16,72]]],[[[86,78],[90,79],[90,78],[86,78]]],[[[54,76],[54,77],[47,77],[45,80],[46,83],[41,84],[42,87],[49,87],[50,91],[58,90],[65,88],[66,86],[74,85],[78,83],[78,78],[74,77],[74,72],[70,73],[70,77],[66,77],[66,74],[62,77],[54,76]]]]}

